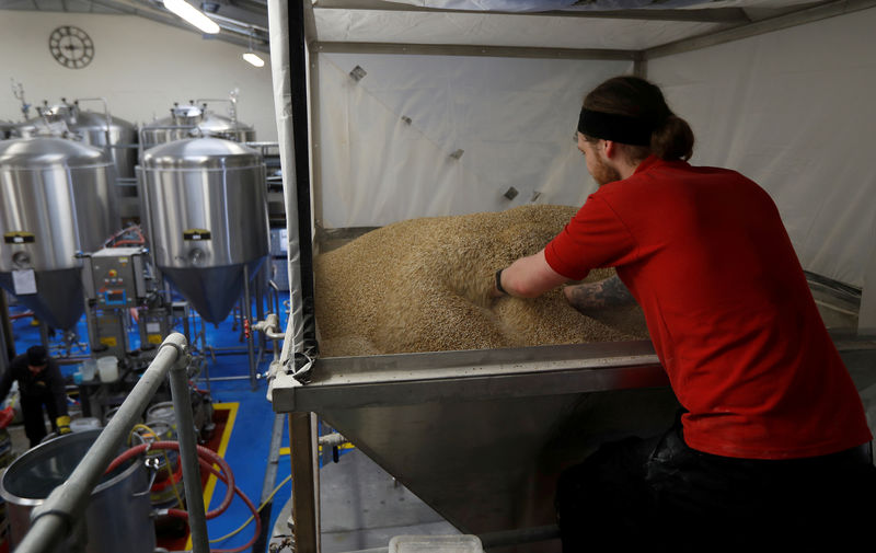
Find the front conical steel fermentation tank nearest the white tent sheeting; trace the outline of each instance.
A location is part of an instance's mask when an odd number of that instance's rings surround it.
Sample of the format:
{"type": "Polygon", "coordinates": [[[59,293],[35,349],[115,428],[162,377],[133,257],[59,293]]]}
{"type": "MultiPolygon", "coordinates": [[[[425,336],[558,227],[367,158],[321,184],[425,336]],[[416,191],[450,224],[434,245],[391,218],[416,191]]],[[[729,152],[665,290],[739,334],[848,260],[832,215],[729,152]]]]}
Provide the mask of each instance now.
{"type": "Polygon", "coordinates": [[[268,254],[262,155],[218,138],[176,140],[145,152],[139,181],[155,265],[221,322],[268,254]]]}

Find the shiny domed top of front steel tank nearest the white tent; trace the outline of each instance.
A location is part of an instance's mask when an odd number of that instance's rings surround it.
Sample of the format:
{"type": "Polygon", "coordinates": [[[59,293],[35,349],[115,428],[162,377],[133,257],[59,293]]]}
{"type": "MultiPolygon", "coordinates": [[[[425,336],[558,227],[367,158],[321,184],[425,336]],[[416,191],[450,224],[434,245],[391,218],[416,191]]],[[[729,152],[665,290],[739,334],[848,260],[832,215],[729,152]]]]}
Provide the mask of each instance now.
{"type": "Polygon", "coordinates": [[[221,138],[184,138],[150,148],[143,153],[147,169],[224,169],[260,165],[262,154],[221,138]]]}

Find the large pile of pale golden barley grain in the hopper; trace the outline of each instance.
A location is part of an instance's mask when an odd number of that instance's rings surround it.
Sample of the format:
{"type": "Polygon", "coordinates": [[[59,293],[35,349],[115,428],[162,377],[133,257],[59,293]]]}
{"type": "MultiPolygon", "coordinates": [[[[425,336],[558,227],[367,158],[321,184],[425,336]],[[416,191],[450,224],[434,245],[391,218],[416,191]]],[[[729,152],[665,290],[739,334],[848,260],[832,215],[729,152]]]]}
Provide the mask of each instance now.
{"type": "MultiPolygon", "coordinates": [[[[489,292],[496,269],[530,255],[575,215],[565,206],[412,219],[318,255],[316,322],[326,357],[482,349],[646,337],[637,308],[596,320],[556,289],[489,292]]],[[[591,272],[587,281],[612,269],[591,272]]],[[[595,315],[597,316],[597,315],[595,315]]]]}

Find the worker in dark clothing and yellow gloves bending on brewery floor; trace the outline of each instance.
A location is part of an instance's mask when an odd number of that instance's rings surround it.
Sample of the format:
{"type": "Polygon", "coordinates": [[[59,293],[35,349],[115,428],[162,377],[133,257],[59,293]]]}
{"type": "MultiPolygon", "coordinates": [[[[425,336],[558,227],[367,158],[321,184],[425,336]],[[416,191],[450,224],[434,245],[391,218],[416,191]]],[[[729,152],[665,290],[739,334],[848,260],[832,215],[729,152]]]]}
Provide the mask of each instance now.
{"type": "Polygon", "coordinates": [[[44,405],[51,429],[58,434],[70,431],[64,377],[58,362],[48,356],[45,347],[31,346],[27,353],[12,359],[0,381],[0,398],[7,396],[13,380],[19,381],[24,433],[31,440],[31,447],[35,447],[46,437],[44,405]]]}

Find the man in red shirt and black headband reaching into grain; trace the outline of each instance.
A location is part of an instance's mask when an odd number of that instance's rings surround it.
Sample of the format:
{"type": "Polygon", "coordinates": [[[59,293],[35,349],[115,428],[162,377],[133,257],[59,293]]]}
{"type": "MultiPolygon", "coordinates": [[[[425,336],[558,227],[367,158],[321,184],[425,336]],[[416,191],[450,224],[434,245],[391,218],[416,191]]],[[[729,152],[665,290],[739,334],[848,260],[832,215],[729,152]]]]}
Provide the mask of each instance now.
{"type": "MultiPolygon", "coordinates": [[[[688,164],[692,147],[659,88],[600,84],[578,123],[599,189],[544,250],[496,273],[495,295],[534,297],[615,267],[683,407],[664,436],[603,445],[563,474],[564,551],[865,543],[876,469],[854,383],[769,194],[688,164]]],[[[583,309],[611,285],[565,292],[583,309]]]]}

